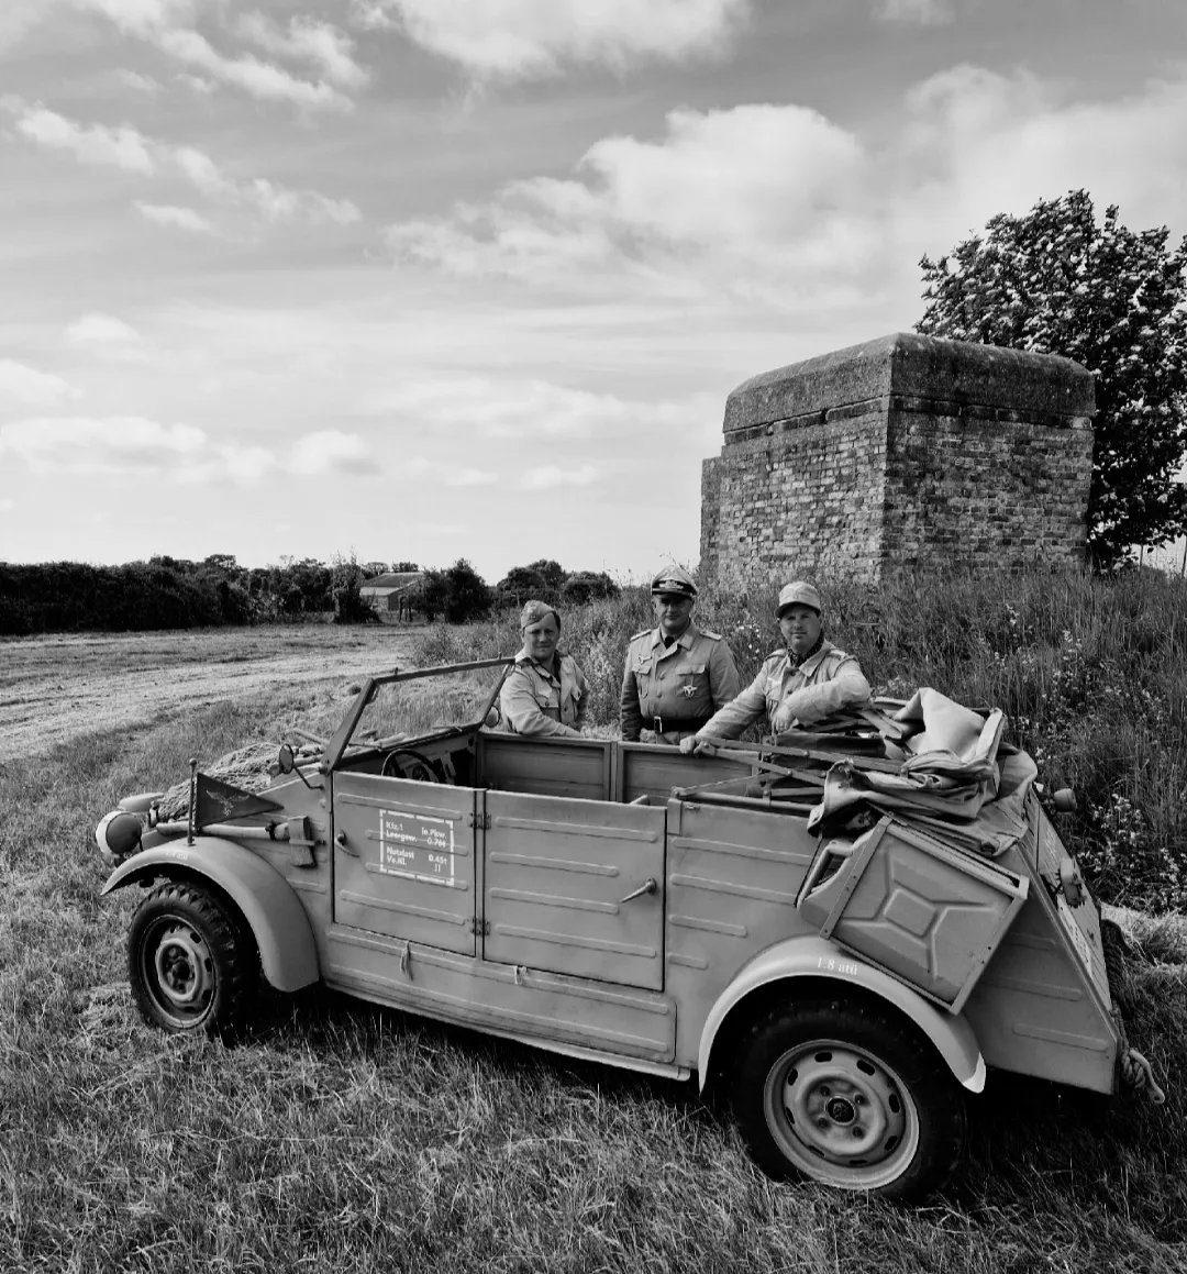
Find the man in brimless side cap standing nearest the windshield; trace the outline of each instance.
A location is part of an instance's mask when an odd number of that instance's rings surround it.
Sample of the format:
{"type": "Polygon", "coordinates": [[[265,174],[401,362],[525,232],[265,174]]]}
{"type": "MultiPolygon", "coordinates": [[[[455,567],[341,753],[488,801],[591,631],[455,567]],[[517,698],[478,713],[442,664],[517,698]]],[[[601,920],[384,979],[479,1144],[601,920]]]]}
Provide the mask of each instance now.
{"type": "Polygon", "coordinates": [[[520,632],[523,646],[499,691],[503,730],[579,738],[590,684],[573,656],[557,650],[560,615],[546,601],[526,601],[520,632]]]}

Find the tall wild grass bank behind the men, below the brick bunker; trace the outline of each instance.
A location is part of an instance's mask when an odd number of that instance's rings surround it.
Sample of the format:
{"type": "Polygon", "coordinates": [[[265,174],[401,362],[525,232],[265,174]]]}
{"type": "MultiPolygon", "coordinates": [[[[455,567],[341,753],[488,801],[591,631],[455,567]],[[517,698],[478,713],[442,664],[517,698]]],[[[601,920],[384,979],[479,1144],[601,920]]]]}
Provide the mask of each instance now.
{"type": "MultiPolygon", "coordinates": [[[[755,578],[697,603],[697,623],[729,640],[744,683],[776,648],[777,594],[777,581],[755,578]]],[[[1044,786],[1077,792],[1079,813],[1056,819],[1105,899],[1187,908],[1187,582],[1158,571],[937,571],[838,582],[823,598],[829,638],[857,656],[876,694],[930,685],[1007,713],[1007,738],[1044,786]]],[[[616,725],[627,643],[653,623],[639,587],[562,615],[596,727],[616,725]]],[[[518,646],[516,614],[504,613],[430,628],[420,660],[518,646]]]]}

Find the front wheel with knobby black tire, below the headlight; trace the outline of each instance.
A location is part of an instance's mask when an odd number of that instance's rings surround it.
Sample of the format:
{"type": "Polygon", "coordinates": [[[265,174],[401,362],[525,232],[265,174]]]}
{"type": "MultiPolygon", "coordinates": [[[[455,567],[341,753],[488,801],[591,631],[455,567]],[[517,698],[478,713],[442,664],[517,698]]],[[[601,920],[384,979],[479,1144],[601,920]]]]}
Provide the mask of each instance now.
{"type": "Polygon", "coordinates": [[[149,893],[127,934],[127,976],[145,1022],[171,1034],[242,1033],[257,957],[237,921],[200,885],[171,880],[149,893]]]}

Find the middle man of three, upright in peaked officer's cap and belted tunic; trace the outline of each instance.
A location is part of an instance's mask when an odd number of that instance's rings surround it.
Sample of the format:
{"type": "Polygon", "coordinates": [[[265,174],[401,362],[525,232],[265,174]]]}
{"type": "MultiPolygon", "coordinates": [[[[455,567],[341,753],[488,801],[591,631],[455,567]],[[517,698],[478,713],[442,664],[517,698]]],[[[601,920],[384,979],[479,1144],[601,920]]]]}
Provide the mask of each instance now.
{"type": "Polygon", "coordinates": [[[622,726],[628,743],[692,738],[737,694],[737,669],[718,633],[692,619],[697,585],[679,566],[651,581],[656,627],[630,638],[623,673],[622,726]]]}

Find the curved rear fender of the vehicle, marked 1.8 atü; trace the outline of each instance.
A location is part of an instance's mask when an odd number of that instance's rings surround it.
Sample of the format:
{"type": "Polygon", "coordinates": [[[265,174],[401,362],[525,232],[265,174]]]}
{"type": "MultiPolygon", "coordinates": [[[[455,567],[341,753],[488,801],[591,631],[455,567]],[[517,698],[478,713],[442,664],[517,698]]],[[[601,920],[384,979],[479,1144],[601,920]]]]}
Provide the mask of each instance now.
{"type": "MultiPolygon", "coordinates": [[[[709,1010],[700,1033],[698,1057],[699,1083],[704,1087],[709,1074],[713,1041],[729,1014],[749,995],[773,982],[813,978],[838,984],[835,990],[860,987],[876,995],[908,1017],[944,1059],[953,1075],[972,1093],[984,1088],[984,1059],[968,1022],[956,1014],[942,1013],[909,986],[866,964],[856,956],[841,950],[824,938],[788,938],[757,956],[721,992],[709,1010]]],[[[787,989],[793,998],[793,986],[787,989]]]]}

